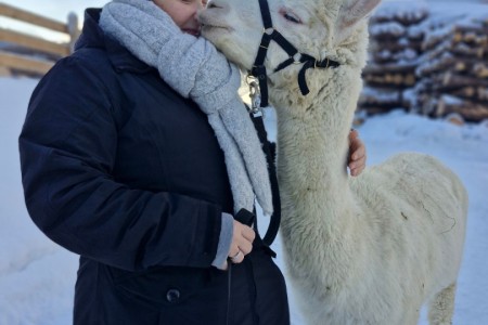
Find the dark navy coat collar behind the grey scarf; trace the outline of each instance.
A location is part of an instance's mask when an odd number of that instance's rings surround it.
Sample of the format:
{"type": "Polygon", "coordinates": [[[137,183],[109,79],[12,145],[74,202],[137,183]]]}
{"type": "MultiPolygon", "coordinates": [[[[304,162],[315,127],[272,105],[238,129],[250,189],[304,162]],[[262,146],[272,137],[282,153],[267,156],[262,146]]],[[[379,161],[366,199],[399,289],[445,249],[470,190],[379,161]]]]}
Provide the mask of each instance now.
{"type": "Polygon", "coordinates": [[[104,35],[99,26],[101,9],[87,9],[81,35],[75,44],[75,51],[84,48],[104,49],[117,72],[145,74],[154,68],[137,58],[118,41],[104,35]]]}

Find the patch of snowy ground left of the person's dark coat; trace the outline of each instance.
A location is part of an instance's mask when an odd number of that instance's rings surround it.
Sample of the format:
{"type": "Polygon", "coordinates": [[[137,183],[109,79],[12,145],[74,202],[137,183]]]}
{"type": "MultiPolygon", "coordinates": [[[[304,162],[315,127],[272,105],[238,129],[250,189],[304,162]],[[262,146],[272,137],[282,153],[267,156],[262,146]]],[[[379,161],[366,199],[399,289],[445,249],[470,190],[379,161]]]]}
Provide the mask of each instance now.
{"type": "Polygon", "coordinates": [[[77,258],[25,209],[17,136],[38,80],[0,78],[0,324],[69,324],[77,258]]]}

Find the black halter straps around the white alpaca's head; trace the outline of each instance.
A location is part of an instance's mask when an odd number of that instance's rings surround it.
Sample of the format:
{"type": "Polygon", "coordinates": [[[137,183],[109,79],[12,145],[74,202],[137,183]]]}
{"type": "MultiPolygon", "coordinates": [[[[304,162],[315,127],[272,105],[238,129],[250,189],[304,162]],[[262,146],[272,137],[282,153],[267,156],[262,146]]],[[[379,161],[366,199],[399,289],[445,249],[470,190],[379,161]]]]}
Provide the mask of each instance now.
{"type": "Polygon", "coordinates": [[[267,75],[265,67],[265,58],[268,52],[268,47],[271,40],[274,40],[290,56],[290,58],[282,62],[274,69],[279,72],[284,69],[291,64],[294,63],[303,63],[300,72],[298,73],[298,86],[300,88],[301,94],[306,95],[310,92],[307,86],[307,80],[305,79],[305,73],[309,68],[335,68],[339,66],[339,63],[336,61],[332,61],[329,58],[324,58],[322,61],[317,61],[313,56],[299,53],[298,50],[288,42],[278,30],[273,28],[273,24],[271,22],[271,14],[269,12],[269,5],[267,0],[259,0],[259,6],[261,10],[262,24],[265,25],[265,29],[262,32],[261,43],[259,46],[258,53],[256,55],[256,60],[253,65],[253,69],[249,72],[249,75],[257,78],[259,82],[259,90],[261,93],[260,99],[260,107],[268,106],[268,83],[267,83],[267,75]],[[299,55],[299,57],[298,57],[299,55]]]}

